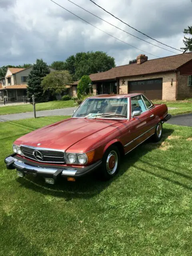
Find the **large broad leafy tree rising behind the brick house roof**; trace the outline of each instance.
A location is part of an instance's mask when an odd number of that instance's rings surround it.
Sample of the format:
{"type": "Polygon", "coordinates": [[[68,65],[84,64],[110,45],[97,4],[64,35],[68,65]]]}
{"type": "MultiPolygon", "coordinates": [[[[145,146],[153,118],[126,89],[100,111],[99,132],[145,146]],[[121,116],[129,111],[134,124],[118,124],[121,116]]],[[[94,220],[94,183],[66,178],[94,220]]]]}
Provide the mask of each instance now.
{"type": "Polygon", "coordinates": [[[79,80],[83,75],[104,72],[115,67],[115,60],[105,52],[78,52],[65,61],[65,70],[72,75],[73,80],[79,80]]]}

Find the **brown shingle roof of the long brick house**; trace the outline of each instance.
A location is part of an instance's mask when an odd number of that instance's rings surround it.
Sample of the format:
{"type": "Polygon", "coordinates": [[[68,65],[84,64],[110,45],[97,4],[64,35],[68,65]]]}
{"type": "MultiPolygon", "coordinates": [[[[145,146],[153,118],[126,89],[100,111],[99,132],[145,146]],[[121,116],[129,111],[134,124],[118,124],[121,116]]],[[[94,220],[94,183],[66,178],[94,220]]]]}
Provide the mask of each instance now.
{"type": "MultiPolygon", "coordinates": [[[[102,80],[112,80],[115,78],[126,76],[139,76],[144,74],[167,72],[171,70],[176,70],[190,60],[192,60],[191,53],[178,54],[154,60],[147,60],[142,64],[134,63],[124,66],[117,66],[106,72],[90,74],[90,79],[93,82],[97,82],[102,80]]],[[[78,82],[79,81],[74,82],[73,85],[78,84],[78,82]]]]}

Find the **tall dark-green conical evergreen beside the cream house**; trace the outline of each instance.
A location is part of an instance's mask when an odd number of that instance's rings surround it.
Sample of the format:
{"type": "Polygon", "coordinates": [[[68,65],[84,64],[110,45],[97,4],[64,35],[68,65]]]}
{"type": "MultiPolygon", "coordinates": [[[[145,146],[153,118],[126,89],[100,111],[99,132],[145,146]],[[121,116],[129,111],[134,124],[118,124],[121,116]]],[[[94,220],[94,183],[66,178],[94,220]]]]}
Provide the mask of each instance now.
{"type": "Polygon", "coordinates": [[[43,101],[43,88],[41,85],[42,78],[50,73],[50,69],[46,62],[42,59],[37,59],[36,64],[33,65],[31,72],[28,75],[27,95],[29,98],[34,94],[38,101],[43,101]]]}

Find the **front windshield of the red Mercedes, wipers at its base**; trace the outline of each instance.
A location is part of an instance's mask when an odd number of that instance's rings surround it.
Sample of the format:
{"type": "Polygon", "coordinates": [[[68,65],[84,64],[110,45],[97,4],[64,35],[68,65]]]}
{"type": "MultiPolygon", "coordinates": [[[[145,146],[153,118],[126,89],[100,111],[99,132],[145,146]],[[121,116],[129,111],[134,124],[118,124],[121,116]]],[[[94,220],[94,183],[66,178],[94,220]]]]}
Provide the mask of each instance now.
{"type": "Polygon", "coordinates": [[[127,118],[127,98],[88,98],[76,110],[73,117],[127,118]]]}

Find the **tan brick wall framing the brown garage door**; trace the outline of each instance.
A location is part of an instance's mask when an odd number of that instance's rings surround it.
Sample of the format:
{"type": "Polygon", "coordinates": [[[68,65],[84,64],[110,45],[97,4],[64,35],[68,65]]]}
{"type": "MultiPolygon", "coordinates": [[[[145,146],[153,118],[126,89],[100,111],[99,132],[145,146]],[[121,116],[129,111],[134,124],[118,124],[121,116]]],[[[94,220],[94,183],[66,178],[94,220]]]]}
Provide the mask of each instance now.
{"type": "Polygon", "coordinates": [[[147,80],[147,79],[156,79],[162,78],[162,100],[176,100],[176,73],[168,72],[154,75],[144,75],[144,76],[132,76],[121,78],[119,81],[119,94],[128,93],[128,82],[136,80],[147,80]],[[125,84],[122,84],[124,79],[125,84]]]}

